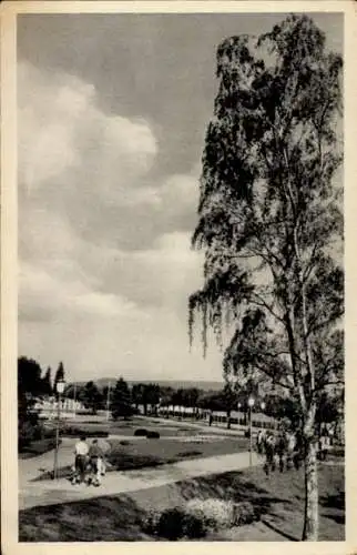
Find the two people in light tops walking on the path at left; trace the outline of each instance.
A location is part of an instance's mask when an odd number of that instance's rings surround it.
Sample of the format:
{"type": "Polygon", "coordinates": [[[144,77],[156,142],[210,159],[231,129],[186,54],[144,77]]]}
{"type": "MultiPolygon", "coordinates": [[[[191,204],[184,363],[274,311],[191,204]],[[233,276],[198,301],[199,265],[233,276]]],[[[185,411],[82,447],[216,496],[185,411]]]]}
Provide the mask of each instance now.
{"type": "Polygon", "coordinates": [[[104,475],[105,457],[98,440],[93,440],[89,445],[85,436],[80,437],[74,448],[72,485],[86,483],[98,487],[101,485],[104,475]]]}

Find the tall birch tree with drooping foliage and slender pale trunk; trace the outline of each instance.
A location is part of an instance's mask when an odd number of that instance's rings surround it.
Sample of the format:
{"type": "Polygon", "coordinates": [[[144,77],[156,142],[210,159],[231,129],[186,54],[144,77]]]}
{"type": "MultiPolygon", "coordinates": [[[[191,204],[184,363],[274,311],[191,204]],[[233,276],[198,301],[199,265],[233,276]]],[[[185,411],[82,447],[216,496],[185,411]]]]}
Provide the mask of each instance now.
{"type": "MultiPolygon", "coordinates": [[[[318,398],[344,369],[334,180],[343,61],[325,42],[312,19],[289,16],[257,40],[232,37],[218,47],[193,235],[204,284],[188,303],[191,341],[198,314],[204,352],[208,327],[224,346],[225,376],[297,398],[310,476],[318,398]]],[[[307,518],[304,537],[316,537],[316,518],[307,518]]]]}

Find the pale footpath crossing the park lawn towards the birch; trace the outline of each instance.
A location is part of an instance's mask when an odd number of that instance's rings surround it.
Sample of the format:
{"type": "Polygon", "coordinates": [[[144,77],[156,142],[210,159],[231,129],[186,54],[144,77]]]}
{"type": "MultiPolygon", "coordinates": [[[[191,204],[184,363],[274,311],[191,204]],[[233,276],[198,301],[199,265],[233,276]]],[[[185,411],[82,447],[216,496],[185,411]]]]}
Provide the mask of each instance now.
{"type": "MultiPolygon", "coordinates": [[[[254,465],[257,465],[261,464],[262,460],[253,453],[252,462],[254,465]]],[[[123,472],[113,471],[106,474],[100,487],[85,486],[84,484],[72,486],[65,478],[40,482],[31,482],[22,478],[20,482],[19,508],[23,509],[109,495],[120,495],[139,490],[173,484],[198,476],[239,471],[248,466],[249,453],[244,452],[181,461],[155,468],[123,472]]]]}

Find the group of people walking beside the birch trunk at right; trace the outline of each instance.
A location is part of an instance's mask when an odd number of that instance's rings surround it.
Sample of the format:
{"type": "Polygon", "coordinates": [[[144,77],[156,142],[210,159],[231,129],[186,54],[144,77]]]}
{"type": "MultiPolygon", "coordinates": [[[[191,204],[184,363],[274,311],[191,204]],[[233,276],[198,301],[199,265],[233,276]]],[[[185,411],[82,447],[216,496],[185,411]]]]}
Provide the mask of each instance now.
{"type": "MultiPolygon", "coordinates": [[[[318,441],[318,457],[326,460],[330,437],[322,433],[318,441]]],[[[304,440],[300,432],[279,430],[272,432],[259,430],[256,437],[257,452],[265,456],[264,471],[268,475],[278,466],[280,472],[295,467],[298,470],[304,461],[304,440]]]]}

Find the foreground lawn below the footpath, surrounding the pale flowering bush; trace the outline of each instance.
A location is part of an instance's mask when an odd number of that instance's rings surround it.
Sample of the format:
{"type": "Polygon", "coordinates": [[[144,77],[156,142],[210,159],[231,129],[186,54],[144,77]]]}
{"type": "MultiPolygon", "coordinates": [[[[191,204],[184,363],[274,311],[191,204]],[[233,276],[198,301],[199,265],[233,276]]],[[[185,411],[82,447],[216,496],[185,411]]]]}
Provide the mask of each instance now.
{"type": "MultiPolygon", "coordinates": [[[[319,496],[319,539],[343,541],[343,466],[320,465],[319,496]]],[[[19,536],[21,542],[155,541],[156,538],[142,531],[146,511],[183,505],[192,497],[249,501],[261,513],[261,522],[215,534],[205,541],[300,539],[304,512],[303,472],[290,471],[266,477],[258,467],[152,487],[130,495],[98,497],[21,511],[19,536]]]]}

